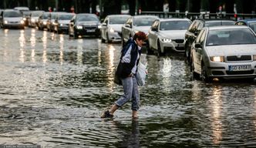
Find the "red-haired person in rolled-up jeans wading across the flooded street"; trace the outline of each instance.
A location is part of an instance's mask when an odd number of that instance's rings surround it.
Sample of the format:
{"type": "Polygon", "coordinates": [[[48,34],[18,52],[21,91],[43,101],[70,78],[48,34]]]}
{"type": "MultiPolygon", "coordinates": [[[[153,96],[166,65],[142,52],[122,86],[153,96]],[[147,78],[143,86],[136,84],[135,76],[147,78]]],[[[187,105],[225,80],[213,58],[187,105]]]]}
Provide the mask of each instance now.
{"type": "Polygon", "coordinates": [[[123,47],[121,61],[123,63],[123,72],[127,73],[120,76],[123,85],[123,95],[110,107],[101,114],[101,118],[112,118],[116,109],[122,107],[130,99],[132,99],[132,117],[138,117],[138,110],[140,108],[140,93],[136,81],[136,70],[140,62],[141,47],[143,42],[147,39],[144,32],[136,32],[133,39],[129,39],[123,47]]]}

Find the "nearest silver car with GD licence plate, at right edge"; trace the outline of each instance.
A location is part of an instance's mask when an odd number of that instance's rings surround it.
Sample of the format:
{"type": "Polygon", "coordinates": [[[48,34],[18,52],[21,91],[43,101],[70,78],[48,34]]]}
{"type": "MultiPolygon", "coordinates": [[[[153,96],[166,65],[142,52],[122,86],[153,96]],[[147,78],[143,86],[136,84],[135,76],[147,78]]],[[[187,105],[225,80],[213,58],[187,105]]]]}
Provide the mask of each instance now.
{"type": "Polygon", "coordinates": [[[204,27],[191,48],[194,78],[256,77],[256,34],[248,26],[204,27]]]}

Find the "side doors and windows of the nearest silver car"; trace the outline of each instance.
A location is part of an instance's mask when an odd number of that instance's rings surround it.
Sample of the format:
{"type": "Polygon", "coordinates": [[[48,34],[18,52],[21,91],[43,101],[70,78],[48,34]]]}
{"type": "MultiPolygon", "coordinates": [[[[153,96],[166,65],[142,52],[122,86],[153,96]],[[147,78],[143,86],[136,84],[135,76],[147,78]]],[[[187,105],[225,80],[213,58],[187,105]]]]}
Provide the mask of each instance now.
{"type": "Polygon", "coordinates": [[[197,38],[195,39],[193,45],[192,45],[192,62],[194,64],[194,70],[197,73],[201,73],[201,61],[202,61],[202,54],[203,54],[203,44],[205,39],[206,31],[205,29],[202,29],[197,35],[197,38]]]}

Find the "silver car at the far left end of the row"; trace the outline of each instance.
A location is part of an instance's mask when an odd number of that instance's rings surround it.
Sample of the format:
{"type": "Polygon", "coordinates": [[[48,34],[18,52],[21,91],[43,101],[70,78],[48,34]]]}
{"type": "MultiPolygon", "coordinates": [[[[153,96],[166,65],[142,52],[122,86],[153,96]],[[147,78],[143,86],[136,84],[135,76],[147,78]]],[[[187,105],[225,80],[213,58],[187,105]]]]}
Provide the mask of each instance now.
{"type": "Polygon", "coordinates": [[[1,13],[1,27],[3,29],[24,29],[24,21],[22,18],[22,13],[18,10],[5,9],[1,13]]]}

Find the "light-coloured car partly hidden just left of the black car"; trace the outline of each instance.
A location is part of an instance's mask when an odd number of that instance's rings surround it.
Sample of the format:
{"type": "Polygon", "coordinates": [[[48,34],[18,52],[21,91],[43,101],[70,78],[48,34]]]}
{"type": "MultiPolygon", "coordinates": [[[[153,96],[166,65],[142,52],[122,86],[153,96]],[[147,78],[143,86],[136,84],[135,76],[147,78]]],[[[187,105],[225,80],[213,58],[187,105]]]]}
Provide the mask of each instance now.
{"type": "Polygon", "coordinates": [[[69,22],[74,15],[74,13],[59,13],[53,23],[54,32],[69,32],[69,22]]]}

